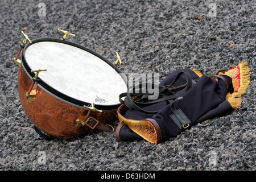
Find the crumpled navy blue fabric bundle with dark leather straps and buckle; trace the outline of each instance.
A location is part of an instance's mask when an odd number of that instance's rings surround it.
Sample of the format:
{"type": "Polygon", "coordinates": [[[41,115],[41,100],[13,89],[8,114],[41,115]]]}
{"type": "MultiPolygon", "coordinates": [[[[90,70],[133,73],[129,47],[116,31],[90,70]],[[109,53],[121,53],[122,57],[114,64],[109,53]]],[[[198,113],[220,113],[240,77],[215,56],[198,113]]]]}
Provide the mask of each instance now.
{"type": "Polygon", "coordinates": [[[233,109],[225,99],[234,91],[232,78],[227,75],[205,76],[192,69],[180,69],[154,86],[159,87],[156,100],[148,100],[149,92],[120,95],[123,105],[118,109],[118,141],[144,138],[160,143],[233,109]]]}

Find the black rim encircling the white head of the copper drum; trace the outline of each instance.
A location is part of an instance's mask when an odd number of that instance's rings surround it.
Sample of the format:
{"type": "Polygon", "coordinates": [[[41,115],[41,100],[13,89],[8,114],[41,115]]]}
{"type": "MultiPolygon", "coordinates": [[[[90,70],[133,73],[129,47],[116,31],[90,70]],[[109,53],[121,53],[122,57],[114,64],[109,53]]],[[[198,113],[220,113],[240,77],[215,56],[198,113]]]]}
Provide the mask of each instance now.
{"type": "MultiPolygon", "coordinates": [[[[38,39],[34,39],[31,41],[31,43],[26,44],[26,46],[23,48],[22,51],[22,56],[21,56],[21,61],[22,61],[22,67],[24,68],[24,71],[27,73],[28,77],[32,78],[35,76],[35,73],[31,73],[31,68],[27,63],[27,60],[24,56],[26,49],[31,46],[32,44],[35,43],[39,43],[39,42],[57,42],[57,43],[64,43],[64,44],[68,44],[70,46],[75,46],[77,48],[83,49],[84,51],[87,51],[89,53],[92,53],[94,56],[97,56],[98,58],[100,58],[101,60],[105,61],[105,63],[109,64],[110,67],[114,68],[114,70],[117,73],[121,73],[121,77],[123,79],[123,81],[126,84],[127,87],[127,77],[121,72],[121,70],[117,67],[115,67],[115,65],[113,63],[111,63],[108,59],[106,59],[105,57],[103,57],[102,55],[98,54],[97,52],[92,51],[92,49],[89,49],[87,47],[81,46],[79,44],[73,43],[73,42],[69,42],[67,40],[61,40],[61,39],[55,39],[55,38],[38,38],[38,39]]],[[[40,77],[40,76],[39,76],[40,77]]],[[[59,100],[76,106],[76,107],[80,107],[82,109],[86,109],[85,106],[90,106],[92,103],[89,102],[85,102],[85,101],[81,101],[81,100],[77,100],[76,98],[73,98],[71,96],[67,96],[64,93],[59,92],[58,90],[52,88],[52,86],[48,85],[46,82],[44,82],[43,80],[40,80],[40,78],[38,80],[35,81],[35,83],[42,88],[44,91],[46,91],[47,93],[51,94],[53,97],[58,98],[59,100]]],[[[95,104],[94,107],[96,107],[98,110],[102,110],[102,111],[110,111],[110,110],[116,110],[118,109],[118,107],[121,106],[121,103],[119,104],[114,104],[114,105],[97,105],[95,104]]]]}

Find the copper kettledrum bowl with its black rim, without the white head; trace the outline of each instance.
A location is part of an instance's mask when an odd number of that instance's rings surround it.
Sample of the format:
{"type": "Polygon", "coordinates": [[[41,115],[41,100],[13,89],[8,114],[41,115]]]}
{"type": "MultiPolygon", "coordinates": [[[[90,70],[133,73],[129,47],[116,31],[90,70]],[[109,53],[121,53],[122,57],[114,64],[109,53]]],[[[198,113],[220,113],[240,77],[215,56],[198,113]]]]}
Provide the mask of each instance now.
{"type": "MultiPolygon", "coordinates": [[[[89,102],[77,101],[75,98],[59,93],[58,90],[47,85],[43,80],[40,80],[40,75],[36,80],[33,78],[35,72],[31,72],[24,52],[27,47],[37,42],[57,42],[75,46],[99,57],[105,61],[105,63],[108,63],[116,72],[121,73],[121,71],[104,57],[90,49],[60,39],[35,39],[27,43],[23,48],[22,64],[20,64],[18,75],[18,91],[20,102],[30,121],[44,133],[56,138],[68,139],[92,133],[95,129],[93,130],[86,125],[81,125],[81,122],[79,122],[82,121],[90,111],[83,107],[84,105],[92,106],[89,102]],[[29,97],[26,97],[28,93],[29,97]]],[[[122,79],[125,81],[125,78],[122,79]]],[[[116,111],[120,105],[119,103],[106,106],[95,105],[97,109],[101,109],[102,112],[91,110],[90,117],[93,117],[101,123],[106,123],[117,115],[116,111]]]]}

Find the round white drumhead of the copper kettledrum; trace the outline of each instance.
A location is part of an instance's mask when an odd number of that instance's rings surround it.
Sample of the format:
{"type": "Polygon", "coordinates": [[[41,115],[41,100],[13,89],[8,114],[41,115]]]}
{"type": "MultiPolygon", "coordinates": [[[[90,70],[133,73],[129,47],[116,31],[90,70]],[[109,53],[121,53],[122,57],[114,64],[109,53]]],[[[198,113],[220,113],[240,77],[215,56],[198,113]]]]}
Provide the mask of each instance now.
{"type": "Polygon", "coordinates": [[[126,83],[108,63],[84,49],[59,42],[38,42],[26,48],[31,70],[47,69],[39,78],[53,89],[96,105],[119,104],[126,83]]]}

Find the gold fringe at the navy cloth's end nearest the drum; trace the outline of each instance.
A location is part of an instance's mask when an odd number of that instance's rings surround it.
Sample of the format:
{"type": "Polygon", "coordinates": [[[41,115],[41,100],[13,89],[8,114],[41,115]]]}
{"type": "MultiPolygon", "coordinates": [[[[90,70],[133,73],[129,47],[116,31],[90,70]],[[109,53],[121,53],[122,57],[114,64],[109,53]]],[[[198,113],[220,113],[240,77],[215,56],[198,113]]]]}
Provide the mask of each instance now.
{"type": "Polygon", "coordinates": [[[150,143],[158,142],[158,134],[156,133],[154,125],[151,122],[145,120],[133,120],[126,119],[118,113],[118,119],[120,122],[125,123],[131,130],[137,133],[150,143]]]}

